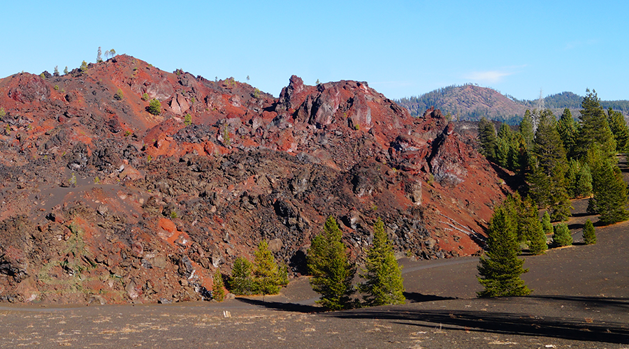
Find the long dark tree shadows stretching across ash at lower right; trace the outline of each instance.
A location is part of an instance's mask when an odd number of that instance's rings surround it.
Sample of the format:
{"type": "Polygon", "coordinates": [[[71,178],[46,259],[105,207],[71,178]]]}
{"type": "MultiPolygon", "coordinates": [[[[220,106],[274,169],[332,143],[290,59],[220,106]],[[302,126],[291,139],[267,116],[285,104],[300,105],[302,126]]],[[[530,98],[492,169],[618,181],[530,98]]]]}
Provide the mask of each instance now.
{"type": "MultiPolygon", "coordinates": [[[[538,297],[540,302],[556,307],[566,302],[600,306],[605,311],[626,313],[629,299],[598,297],[538,297]],[[559,303],[559,304],[556,304],[559,303]]],[[[629,343],[629,325],[622,322],[602,322],[588,318],[558,318],[533,313],[506,313],[461,310],[422,310],[404,307],[357,309],[326,313],[326,316],[345,319],[382,319],[404,325],[426,328],[491,332],[523,336],[544,336],[576,341],[598,341],[605,343],[629,343]]]]}

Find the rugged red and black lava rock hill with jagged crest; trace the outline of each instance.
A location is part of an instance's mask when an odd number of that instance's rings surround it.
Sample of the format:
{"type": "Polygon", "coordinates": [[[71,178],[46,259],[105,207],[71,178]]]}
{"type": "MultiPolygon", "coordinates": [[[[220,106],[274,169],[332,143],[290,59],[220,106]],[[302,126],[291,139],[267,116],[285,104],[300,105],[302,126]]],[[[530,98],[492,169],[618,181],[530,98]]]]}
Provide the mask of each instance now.
{"type": "Polygon", "coordinates": [[[305,274],[328,216],[356,262],[378,217],[400,256],[473,255],[509,192],[440,110],[366,82],[275,98],[119,55],[3,78],[0,108],[2,302],[207,299],[262,239],[305,274]]]}

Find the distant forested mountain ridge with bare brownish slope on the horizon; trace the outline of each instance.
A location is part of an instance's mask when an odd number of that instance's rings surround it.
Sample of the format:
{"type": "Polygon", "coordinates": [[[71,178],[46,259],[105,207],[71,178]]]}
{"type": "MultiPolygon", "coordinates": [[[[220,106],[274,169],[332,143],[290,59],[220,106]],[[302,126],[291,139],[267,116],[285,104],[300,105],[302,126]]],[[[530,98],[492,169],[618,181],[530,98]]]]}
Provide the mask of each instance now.
{"type": "MultiPolygon", "coordinates": [[[[527,109],[542,105],[558,115],[564,108],[569,108],[577,117],[581,108],[583,96],[572,92],[551,94],[542,100],[519,100],[513,96],[503,95],[489,87],[479,87],[475,84],[451,85],[421,96],[411,96],[396,100],[398,105],[406,107],[412,115],[421,115],[424,110],[435,107],[444,114],[460,120],[479,120],[481,117],[507,122],[518,123],[527,109]]],[[[612,107],[623,114],[629,114],[629,101],[601,101],[605,109],[612,107]]]]}

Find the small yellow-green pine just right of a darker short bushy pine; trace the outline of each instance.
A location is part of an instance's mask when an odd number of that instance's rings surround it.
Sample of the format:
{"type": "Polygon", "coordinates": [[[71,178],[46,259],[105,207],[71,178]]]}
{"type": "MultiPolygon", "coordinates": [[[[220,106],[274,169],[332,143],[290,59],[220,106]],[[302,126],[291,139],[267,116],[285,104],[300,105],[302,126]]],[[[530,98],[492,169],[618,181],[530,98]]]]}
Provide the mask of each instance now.
{"type": "Polygon", "coordinates": [[[288,279],[286,272],[282,272],[282,268],[277,266],[266,240],[258,244],[254,255],[253,280],[257,292],[262,295],[277,294],[280,292],[280,286],[287,285],[288,279]]]}

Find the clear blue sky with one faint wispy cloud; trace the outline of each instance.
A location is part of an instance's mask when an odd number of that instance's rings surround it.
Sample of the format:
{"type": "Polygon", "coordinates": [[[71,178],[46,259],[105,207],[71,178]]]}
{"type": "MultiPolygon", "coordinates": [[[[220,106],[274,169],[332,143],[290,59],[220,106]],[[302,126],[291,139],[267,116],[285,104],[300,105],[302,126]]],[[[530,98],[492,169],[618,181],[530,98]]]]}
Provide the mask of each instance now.
{"type": "Polygon", "coordinates": [[[96,61],[234,77],[277,96],[367,81],[389,98],[472,82],[629,99],[629,1],[4,1],[0,77],[96,61]]]}

